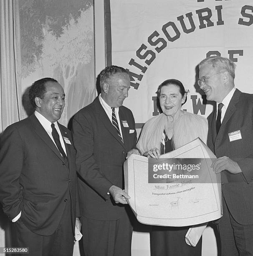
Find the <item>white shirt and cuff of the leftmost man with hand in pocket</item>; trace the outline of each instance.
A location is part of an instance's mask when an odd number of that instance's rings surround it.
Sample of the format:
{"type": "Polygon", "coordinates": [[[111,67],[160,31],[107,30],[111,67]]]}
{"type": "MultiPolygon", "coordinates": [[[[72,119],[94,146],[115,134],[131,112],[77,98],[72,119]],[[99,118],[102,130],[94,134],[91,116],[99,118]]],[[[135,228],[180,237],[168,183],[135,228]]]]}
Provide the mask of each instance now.
{"type": "MultiPolygon", "coordinates": [[[[36,118],[39,120],[40,124],[41,124],[41,125],[43,126],[43,128],[45,129],[45,131],[48,133],[48,135],[49,135],[49,137],[51,138],[51,140],[53,141],[53,143],[56,145],[56,143],[55,143],[55,141],[54,141],[54,139],[53,139],[53,136],[52,136],[52,127],[51,127],[51,124],[52,124],[52,123],[51,123],[50,121],[48,121],[43,115],[41,115],[40,113],[38,113],[38,111],[35,110],[34,114],[35,114],[36,118]]],[[[61,132],[60,132],[58,123],[55,122],[54,125],[55,125],[55,128],[56,128],[56,131],[57,131],[58,134],[59,134],[61,146],[62,146],[62,148],[63,148],[65,154],[67,155],[66,148],[65,148],[65,144],[64,144],[64,142],[63,142],[63,138],[62,138],[62,135],[61,135],[61,132]]],[[[56,148],[57,148],[57,146],[56,146],[56,148]]],[[[59,152],[60,152],[60,151],[59,151],[59,152]]],[[[60,154],[61,154],[61,152],[60,152],[60,154]]],[[[20,216],[21,216],[21,211],[20,211],[20,213],[19,213],[15,218],[13,218],[11,221],[12,221],[12,222],[17,221],[17,220],[20,218],[20,216]]]]}

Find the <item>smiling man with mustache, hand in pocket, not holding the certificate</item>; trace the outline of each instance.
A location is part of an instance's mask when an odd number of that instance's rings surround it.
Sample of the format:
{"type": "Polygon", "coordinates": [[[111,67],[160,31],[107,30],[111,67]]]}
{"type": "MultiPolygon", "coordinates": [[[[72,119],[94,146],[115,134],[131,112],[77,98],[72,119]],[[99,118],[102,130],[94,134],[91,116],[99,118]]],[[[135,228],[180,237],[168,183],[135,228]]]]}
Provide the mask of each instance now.
{"type": "Polygon", "coordinates": [[[76,163],[71,132],[60,125],[65,105],[52,78],[34,82],[35,113],[3,133],[0,201],[13,222],[14,244],[29,255],[72,255],[76,222],[76,163]]]}

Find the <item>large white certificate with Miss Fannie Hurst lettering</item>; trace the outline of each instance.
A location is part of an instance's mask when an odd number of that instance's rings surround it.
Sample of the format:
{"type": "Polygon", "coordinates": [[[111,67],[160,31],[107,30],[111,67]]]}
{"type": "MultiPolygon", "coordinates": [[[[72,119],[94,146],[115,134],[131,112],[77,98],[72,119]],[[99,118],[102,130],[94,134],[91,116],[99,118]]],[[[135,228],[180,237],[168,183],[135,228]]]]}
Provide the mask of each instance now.
{"type": "Polygon", "coordinates": [[[188,226],[220,218],[220,174],[210,168],[215,158],[198,138],[158,160],[131,155],[124,163],[125,191],[137,220],[188,226]]]}

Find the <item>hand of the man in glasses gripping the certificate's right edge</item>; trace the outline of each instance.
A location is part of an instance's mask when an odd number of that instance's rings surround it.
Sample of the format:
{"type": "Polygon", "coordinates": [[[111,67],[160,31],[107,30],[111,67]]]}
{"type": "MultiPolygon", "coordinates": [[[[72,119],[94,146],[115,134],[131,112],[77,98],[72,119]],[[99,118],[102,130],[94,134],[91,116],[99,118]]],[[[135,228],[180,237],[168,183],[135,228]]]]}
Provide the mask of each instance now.
{"type": "Polygon", "coordinates": [[[213,161],[213,164],[211,165],[213,167],[213,171],[218,174],[224,170],[228,170],[228,172],[232,174],[237,174],[242,172],[240,169],[240,166],[237,164],[237,162],[231,160],[228,156],[223,156],[218,159],[215,159],[213,161]]]}

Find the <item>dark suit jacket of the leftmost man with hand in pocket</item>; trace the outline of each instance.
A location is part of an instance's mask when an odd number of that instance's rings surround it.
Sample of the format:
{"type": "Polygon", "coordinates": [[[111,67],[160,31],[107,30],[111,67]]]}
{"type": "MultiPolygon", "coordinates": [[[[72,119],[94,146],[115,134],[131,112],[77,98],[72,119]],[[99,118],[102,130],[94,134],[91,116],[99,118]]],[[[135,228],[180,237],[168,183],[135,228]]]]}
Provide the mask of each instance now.
{"type": "Polygon", "coordinates": [[[28,229],[48,236],[56,230],[71,196],[72,225],[76,218],[76,163],[71,132],[58,124],[68,163],[35,115],[5,129],[0,150],[0,201],[10,220],[22,210],[28,229]]]}

